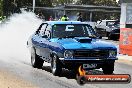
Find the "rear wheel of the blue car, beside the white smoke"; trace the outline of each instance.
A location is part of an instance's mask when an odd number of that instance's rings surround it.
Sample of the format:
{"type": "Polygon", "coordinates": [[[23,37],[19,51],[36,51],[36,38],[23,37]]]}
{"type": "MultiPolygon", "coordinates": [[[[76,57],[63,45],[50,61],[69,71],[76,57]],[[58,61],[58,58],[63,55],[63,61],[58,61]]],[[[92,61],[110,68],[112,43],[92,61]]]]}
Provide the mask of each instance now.
{"type": "Polygon", "coordinates": [[[31,64],[34,68],[42,68],[44,60],[42,60],[37,54],[34,48],[31,49],[31,64]]]}

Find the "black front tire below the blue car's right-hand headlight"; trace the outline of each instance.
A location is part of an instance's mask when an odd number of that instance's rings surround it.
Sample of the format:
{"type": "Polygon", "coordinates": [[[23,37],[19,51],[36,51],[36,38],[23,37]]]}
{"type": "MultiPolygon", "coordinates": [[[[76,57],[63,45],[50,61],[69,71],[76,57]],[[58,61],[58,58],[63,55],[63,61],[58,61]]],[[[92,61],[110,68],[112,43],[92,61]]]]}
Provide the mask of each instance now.
{"type": "Polygon", "coordinates": [[[104,74],[113,74],[114,71],[114,63],[107,63],[102,67],[104,74]]]}

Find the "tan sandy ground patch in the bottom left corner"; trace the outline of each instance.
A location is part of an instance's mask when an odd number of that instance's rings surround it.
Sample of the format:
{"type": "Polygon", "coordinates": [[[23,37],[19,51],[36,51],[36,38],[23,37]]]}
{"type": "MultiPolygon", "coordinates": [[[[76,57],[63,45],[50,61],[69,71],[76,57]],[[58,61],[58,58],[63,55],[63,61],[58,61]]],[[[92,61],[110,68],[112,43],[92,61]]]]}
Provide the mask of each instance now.
{"type": "Polygon", "coordinates": [[[31,83],[0,69],[0,88],[38,88],[31,83]]]}

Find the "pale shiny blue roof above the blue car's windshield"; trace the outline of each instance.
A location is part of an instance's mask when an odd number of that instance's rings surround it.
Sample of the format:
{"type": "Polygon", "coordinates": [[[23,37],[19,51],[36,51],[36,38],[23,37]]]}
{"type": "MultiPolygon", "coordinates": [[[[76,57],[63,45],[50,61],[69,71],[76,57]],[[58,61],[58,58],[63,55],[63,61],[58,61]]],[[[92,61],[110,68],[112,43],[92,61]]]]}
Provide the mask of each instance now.
{"type": "Polygon", "coordinates": [[[87,24],[81,21],[45,21],[43,23],[54,24],[87,24]]]}

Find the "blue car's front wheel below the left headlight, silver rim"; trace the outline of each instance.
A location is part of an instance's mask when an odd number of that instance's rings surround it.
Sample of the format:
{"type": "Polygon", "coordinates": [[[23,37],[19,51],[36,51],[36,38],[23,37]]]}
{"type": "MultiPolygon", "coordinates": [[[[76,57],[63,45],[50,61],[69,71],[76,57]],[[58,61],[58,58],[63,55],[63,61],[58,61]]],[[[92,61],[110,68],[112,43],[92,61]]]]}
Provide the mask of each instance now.
{"type": "Polygon", "coordinates": [[[60,74],[62,72],[62,65],[61,65],[57,55],[52,56],[51,71],[54,76],[60,76],[60,74]]]}

